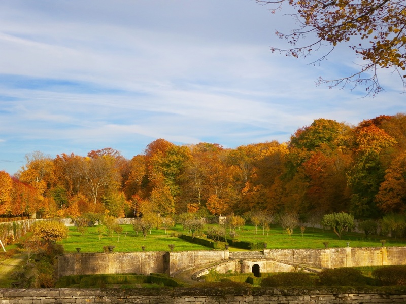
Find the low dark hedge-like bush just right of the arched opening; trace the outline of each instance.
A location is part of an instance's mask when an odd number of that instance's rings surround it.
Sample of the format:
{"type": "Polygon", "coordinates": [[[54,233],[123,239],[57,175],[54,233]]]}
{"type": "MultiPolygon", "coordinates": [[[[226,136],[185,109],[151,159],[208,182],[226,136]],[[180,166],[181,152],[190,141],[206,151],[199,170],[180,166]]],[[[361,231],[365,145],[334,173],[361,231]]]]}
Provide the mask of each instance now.
{"type": "Polygon", "coordinates": [[[315,276],[309,273],[274,273],[262,279],[263,287],[314,286],[315,276]]]}

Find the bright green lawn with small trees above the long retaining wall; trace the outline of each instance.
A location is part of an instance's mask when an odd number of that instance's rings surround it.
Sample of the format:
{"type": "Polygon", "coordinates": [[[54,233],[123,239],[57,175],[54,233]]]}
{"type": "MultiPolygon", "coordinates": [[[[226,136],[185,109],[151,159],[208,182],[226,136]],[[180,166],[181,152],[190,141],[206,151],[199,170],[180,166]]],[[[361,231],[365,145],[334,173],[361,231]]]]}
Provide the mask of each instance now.
{"type": "MultiPolygon", "coordinates": [[[[134,252],[142,251],[141,246],[145,246],[145,251],[169,251],[168,245],[174,244],[174,251],[190,250],[213,250],[211,248],[198,244],[189,243],[180,238],[171,236],[171,233],[188,234],[187,230],[182,229],[182,225],[168,229],[165,233],[163,229],[152,229],[146,239],[141,233],[132,229],[132,225],[122,225],[123,233],[118,241],[118,235],[113,233],[111,237],[103,234],[99,240],[97,227],[89,227],[82,236],[76,227],[70,227],[69,238],[60,242],[65,248],[65,252],[76,252],[76,248],[81,248],[81,253],[86,252],[103,252],[104,246],[115,246],[114,252],[134,252]]],[[[204,233],[207,231],[207,225],[204,233]]],[[[386,240],[385,246],[406,246],[406,240],[394,240],[389,237],[368,236],[358,233],[344,234],[341,239],[331,230],[312,229],[306,227],[301,234],[300,229],[294,229],[293,235],[289,235],[279,226],[273,225],[269,230],[265,230],[263,235],[262,229],[255,233],[255,227],[245,225],[240,230],[236,230],[236,239],[247,242],[267,243],[268,249],[322,249],[325,248],[323,242],[328,242],[329,248],[344,248],[349,242],[350,247],[381,247],[381,239],[386,240]]],[[[227,235],[229,230],[227,230],[227,235]]],[[[240,248],[229,248],[230,251],[243,251],[240,248]]]]}

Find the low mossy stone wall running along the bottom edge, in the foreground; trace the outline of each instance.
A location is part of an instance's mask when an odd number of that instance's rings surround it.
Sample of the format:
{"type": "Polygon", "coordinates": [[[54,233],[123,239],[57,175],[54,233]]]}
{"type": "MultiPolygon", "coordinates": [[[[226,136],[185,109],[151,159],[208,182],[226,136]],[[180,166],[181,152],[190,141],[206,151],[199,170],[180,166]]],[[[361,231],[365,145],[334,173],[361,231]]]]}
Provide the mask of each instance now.
{"type": "Polygon", "coordinates": [[[137,289],[0,289],[0,303],[399,303],[402,289],[276,289],[276,288],[137,288],[137,289]]]}

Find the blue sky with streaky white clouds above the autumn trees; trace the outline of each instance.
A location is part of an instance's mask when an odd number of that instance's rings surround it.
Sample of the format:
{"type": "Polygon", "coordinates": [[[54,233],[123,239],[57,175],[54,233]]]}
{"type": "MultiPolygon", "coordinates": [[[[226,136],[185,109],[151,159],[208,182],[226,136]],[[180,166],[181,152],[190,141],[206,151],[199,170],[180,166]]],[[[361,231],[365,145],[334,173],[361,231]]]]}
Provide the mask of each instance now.
{"type": "MultiPolygon", "coordinates": [[[[325,118],[357,125],[405,112],[396,75],[385,91],[316,85],[360,59],[348,46],[320,65],[272,53],[295,27],[285,5],[254,0],[0,2],[0,170],[25,156],[112,147],[131,159],[163,138],[226,148],[278,140],[325,118]]],[[[296,25],[297,26],[297,25],[296,25]]]]}

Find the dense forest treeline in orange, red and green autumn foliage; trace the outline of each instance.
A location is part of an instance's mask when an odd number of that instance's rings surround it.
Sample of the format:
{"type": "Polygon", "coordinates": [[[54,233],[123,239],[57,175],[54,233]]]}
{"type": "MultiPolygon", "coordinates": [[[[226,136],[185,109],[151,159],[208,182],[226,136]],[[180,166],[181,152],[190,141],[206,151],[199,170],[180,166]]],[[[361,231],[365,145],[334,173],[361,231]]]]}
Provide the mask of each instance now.
{"type": "Polygon", "coordinates": [[[35,151],[15,176],[0,172],[0,215],[137,217],[294,211],[303,218],[347,212],[358,219],[404,213],[406,115],[357,126],[316,119],[287,143],[237,148],[157,139],[124,158],[113,148],[55,158],[35,151]]]}

